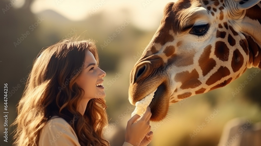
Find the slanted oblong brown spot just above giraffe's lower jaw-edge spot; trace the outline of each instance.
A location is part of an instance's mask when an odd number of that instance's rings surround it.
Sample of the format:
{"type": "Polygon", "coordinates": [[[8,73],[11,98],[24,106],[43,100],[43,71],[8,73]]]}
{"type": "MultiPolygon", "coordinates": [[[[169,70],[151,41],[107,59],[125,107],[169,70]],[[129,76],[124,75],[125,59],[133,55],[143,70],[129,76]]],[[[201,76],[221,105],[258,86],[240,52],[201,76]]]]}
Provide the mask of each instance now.
{"type": "Polygon", "coordinates": [[[209,77],[209,79],[207,79],[206,84],[212,85],[228,75],[230,75],[229,69],[227,67],[220,66],[217,72],[215,72],[213,75],[209,77]]]}

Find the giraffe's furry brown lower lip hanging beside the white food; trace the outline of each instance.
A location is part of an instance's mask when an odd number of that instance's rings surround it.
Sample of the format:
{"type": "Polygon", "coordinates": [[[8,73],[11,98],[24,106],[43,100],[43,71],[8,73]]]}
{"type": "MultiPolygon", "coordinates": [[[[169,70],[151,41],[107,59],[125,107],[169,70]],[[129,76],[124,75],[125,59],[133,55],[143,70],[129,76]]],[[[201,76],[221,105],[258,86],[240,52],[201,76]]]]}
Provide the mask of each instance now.
{"type": "Polygon", "coordinates": [[[149,105],[152,113],[150,118],[151,121],[161,121],[168,113],[169,96],[167,95],[166,89],[166,85],[162,83],[159,85],[153,96],[153,99],[149,105]]]}

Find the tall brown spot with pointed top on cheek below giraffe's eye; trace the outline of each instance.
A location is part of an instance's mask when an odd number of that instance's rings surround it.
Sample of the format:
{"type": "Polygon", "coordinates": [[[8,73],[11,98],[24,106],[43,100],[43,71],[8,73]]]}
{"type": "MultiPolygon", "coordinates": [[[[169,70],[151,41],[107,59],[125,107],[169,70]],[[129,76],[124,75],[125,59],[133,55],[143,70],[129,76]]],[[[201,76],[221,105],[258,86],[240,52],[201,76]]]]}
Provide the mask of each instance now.
{"type": "Polygon", "coordinates": [[[208,45],[204,48],[204,52],[199,58],[199,66],[202,70],[203,76],[207,75],[215,66],[216,61],[213,58],[209,58],[211,53],[211,45],[208,45]]]}

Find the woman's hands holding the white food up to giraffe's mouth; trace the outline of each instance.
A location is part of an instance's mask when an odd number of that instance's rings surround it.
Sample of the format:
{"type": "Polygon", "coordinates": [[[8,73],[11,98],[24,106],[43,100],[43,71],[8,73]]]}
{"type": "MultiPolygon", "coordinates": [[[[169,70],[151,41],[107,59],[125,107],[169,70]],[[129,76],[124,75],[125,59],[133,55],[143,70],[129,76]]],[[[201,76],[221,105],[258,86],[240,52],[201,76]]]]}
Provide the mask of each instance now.
{"type": "Polygon", "coordinates": [[[143,117],[140,118],[136,123],[135,121],[140,116],[135,114],[132,118],[129,119],[125,131],[125,141],[134,145],[134,146],[146,146],[152,141],[153,132],[150,132],[150,117],[151,111],[150,107],[148,106],[146,112],[144,113],[143,117]],[[150,137],[146,137],[149,133],[150,137]],[[142,142],[142,143],[141,143],[142,142]]]}

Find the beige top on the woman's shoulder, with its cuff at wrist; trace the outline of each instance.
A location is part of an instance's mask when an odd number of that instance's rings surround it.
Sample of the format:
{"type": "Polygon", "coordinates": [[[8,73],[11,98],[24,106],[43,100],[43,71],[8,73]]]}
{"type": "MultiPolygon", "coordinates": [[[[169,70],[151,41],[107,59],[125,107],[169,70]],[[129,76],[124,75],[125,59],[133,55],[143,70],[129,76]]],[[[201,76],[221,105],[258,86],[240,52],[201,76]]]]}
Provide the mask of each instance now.
{"type": "MultiPolygon", "coordinates": [[[[61,117],[53,116],[40,131],[39,146],[81,146],[73,128],[61,117]]],[[[124,142],[123,146],[133,146],[124,142]]]]}

